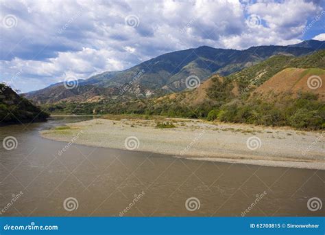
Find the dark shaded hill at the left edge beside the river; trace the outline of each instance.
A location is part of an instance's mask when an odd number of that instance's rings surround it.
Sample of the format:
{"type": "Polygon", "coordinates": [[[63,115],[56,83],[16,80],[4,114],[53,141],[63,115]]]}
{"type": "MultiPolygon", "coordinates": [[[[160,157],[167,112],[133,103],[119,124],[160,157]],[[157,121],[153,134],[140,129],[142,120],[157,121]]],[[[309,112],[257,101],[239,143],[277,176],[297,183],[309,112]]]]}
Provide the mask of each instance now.
{"type": "Polygon", "coordinates": [[[10,87],[0,84],[0,125],[45,121],[47,117],[49,114],[19,96],[10,87]]]}

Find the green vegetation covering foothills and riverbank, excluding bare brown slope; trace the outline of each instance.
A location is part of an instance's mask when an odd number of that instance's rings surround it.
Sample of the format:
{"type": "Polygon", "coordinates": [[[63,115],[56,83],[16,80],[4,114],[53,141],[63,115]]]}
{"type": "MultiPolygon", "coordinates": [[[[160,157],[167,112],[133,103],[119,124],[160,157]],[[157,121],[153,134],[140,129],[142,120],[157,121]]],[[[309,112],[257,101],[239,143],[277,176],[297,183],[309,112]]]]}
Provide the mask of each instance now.
{"type": "Polygon", "coordinates": [[[163,96],[125,101],[101,100],[95,103],[59,102],[43,107],[51,113],[92,114],[96,109],[99,115],[129,114],[145,119],[150,119],[152,115],[163,115],[318,130],[325,128],[325,107],[324,102],[317,100],[315,94],[300,93],[298,98],[288,95],[277,100],[263,100],[261,97],[251,96],[251,93],[286,67],[325,69],[322,58],[325,58],[325,50],[302,57],[273,56],[231,74],[224,80],[213,76],[211,85],[204,90],[206,97],[200,104],[191,100],[194,91],[183,91],[176,93],[173,98],[163,96]],[[235,86],[239,88],[236,96],[232,93],[235,86]]]}

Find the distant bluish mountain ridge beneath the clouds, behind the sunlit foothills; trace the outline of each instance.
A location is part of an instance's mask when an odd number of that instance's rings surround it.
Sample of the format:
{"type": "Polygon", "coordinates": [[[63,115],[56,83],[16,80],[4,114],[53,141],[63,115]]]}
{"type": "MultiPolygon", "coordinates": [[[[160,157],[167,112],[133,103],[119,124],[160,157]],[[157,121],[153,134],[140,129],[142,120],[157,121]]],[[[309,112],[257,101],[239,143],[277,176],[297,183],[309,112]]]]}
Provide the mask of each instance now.
{"type": "MultiPolygon", "coordinates": [[[[323,45],[322,42],[316,43],[323,45]]],[[[134,81],[148,89],[164,89],[166,91],[182,91],[186,88],[185,78],[195,75],[200,80],[206,80],[211,74],[227,76],[234,71],[258,63],[275,54],[290,54],[301,56],[313,52],[314,48],[293,46],[260,46],[250,47],[243,51],[234,49],[215,49],[213,47],[198,47],[158,56],[125,71],[119,71],[115,76],[99,74],[88,78],[87,83],[104,87],[121,87],[131,82],[139,72],[143,75],[134,81]]]]}

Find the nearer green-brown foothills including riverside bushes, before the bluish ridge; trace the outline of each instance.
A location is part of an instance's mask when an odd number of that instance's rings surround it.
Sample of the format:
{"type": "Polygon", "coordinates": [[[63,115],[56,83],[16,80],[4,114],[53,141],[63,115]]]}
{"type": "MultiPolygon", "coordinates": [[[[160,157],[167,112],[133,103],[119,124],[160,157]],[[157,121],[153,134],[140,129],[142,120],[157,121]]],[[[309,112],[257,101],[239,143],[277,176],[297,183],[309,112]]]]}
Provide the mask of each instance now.
{"type": "Polygon", "coordinates": [[[141,99],[57,102],[43,107],[54,113],[206,117],[317,130],[325,128],[324,58],[325,50],[299,57],[280,54],[225,77],[214,74],[193,90],[141,99]]]}

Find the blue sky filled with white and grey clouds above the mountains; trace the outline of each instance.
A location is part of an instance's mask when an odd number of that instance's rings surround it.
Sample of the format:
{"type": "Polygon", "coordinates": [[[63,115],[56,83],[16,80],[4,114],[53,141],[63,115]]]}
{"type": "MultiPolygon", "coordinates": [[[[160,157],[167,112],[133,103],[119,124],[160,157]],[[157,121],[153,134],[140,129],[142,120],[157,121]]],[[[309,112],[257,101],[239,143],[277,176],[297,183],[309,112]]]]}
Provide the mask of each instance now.
{"type": "Polygon", "coordinates": [[[1,0],[0,81],[28,92],[181,49],[325,41],[322,0],[1,0]]]}

